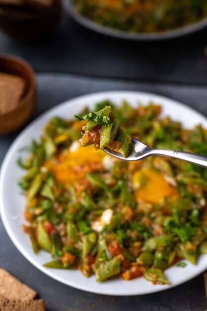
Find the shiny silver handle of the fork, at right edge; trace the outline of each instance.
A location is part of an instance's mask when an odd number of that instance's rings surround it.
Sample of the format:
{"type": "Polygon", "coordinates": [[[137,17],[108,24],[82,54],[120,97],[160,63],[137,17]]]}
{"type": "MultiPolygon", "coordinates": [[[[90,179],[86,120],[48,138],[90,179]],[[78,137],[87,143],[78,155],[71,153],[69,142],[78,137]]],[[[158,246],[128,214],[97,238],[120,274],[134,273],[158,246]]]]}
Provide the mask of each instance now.
{"type": "Polygon", "coordinates": [[[177,159],[188,161],[194,164],[198,164],[204,167],[207,167],[207,156],[201,156],[197,154],[192,154],[189,152],[173,151],[173,150],[164,150],[164,149],[154,149],[151,151],[151,155],[157,156],[171,156],[177,159]]]}

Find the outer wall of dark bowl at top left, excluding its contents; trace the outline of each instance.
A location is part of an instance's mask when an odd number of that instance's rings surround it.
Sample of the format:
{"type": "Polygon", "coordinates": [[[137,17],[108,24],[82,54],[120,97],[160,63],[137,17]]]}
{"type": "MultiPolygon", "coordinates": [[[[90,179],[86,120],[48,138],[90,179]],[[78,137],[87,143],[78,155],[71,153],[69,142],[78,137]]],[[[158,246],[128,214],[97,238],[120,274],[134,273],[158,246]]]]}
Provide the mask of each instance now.
{"type": "Polygon", "coordinates": [[[30,40],[44,36],[52,30],[61,14],[61,0],[40,12],[28,13],[19,9],[0,10],[0,29],[17,40],[30,40]]]}

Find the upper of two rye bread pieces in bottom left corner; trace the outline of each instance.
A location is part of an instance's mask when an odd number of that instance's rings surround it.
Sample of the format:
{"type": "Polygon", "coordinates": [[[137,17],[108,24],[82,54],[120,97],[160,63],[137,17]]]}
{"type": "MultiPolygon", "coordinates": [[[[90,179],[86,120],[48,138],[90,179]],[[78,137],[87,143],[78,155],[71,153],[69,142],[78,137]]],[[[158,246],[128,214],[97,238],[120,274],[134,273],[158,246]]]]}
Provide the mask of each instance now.
{"type": "Polygon", "coordinates": [[[37,293],[14,278],[7,271],[0,269],[0,295],[4,296],[5,299],[26,302],[33,300],[37,296],[37,293]]]}

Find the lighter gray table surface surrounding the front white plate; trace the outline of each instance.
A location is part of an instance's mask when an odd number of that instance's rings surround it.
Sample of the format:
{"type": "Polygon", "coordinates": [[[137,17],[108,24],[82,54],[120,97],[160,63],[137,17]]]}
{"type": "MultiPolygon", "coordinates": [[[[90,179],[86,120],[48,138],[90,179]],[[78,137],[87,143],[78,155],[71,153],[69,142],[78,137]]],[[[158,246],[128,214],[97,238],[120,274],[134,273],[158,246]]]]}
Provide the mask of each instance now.
{"type": "MultiPolygon", "coordinates": [[[[38,104],[33,118],[78,95],[104,90],[139,90],[180,100],[207,115],[207,87],[163,83],[114,81],[75,75],[37,74],[38,104]]],[[[19,132],[0,138],[0,162],[19,132]]],[[[47,311],[205,311],[203,275],[158,294],[114,297],[90,294],[63,285],[33,267],[15,248],[0,221],[0,266],[34,288],[47,311]]]]}

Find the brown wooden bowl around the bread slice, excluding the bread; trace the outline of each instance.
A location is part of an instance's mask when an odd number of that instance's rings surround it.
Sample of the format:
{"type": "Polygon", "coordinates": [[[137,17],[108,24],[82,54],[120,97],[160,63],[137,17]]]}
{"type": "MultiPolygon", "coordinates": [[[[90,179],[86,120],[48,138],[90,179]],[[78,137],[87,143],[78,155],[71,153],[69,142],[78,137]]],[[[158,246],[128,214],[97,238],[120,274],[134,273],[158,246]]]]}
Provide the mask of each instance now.
{"type": "Polygon", "coordinates": [[[36,105],[36,78],[28,63],[11,55],[0,55],[0,72],[19,76],[26,82],[19,105],[0,115],[0,135],[3,135],[20,128],[31,116],[36,105]]]}

